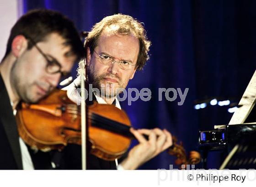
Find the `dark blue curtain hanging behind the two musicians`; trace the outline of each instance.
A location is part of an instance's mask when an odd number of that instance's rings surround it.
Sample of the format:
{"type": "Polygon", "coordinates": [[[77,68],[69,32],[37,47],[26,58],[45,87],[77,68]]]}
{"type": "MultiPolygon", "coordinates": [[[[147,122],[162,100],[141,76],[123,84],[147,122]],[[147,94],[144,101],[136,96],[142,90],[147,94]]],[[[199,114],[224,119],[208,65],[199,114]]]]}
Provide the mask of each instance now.
{"type": "MultiPolygon", "coordinates": [[[[103,17],[128,14],[144,22],[152,41],[150,60],[128,88],[150,88],[148,102],[122,103],[135,128],[165,128],[187,151],[197,150],[198,130],[227,124],[228,107],[195,110],[197,99],[240,99],[256,68],[256,1],[254,0],[23,0],[24,13],[34,8],[59,10],[79,31],[90,31],[103,17]],[[158,88],[189,88],[187,98],[158,101],[158,88]]],[[[74,67],[73,75],[75,76],[74,67]]],[[[170,97],[172,97],[170,93],[170,97]]],[[[218,155],[209,168],[218,168],[218,155]]],[[[169,169],[166,152],[141,169],[169,169]]]]}

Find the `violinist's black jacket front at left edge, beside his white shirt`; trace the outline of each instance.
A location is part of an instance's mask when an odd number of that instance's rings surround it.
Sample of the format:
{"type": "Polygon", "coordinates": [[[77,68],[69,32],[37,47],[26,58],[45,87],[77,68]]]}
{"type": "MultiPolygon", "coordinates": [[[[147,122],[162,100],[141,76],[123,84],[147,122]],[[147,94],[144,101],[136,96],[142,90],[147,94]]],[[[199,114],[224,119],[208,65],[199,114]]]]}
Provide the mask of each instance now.
{"type": "Polygon", "coordinates": [[[21,160],[21,148],[19,142],[19,134],[17,130],[16,120],[11,108],[10,99],[5,88],[5,84],[0,75],[0,119],[5,129],[6,136],[11,145],[11,151],[15,158],[18,169],[23,169],[21,160]]]}

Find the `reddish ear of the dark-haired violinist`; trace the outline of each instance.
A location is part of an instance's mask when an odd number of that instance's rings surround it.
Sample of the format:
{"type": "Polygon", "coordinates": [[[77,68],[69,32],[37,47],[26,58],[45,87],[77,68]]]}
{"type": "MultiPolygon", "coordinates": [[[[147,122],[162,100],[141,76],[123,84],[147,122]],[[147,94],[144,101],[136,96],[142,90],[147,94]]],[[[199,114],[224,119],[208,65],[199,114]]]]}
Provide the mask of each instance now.
{"type": "Polygon", "coordinates": [[[15,57],[20,57],[21,54],[26,51],[27,49],[27,39],[22,36],[18,35],[15,36],[11,43],[11,52],[15,57]]]}

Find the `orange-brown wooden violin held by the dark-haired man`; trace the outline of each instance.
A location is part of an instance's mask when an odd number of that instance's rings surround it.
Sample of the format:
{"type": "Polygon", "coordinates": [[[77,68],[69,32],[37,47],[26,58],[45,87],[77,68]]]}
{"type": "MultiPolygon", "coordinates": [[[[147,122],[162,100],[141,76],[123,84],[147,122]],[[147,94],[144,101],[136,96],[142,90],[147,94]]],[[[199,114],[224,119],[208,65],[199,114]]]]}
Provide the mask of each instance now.
{"type": "MultiPolygon", "coordinates": [[[[94,102],[86,106],[86,120],[91,154],[107,161],[123,156],[134,138],[130,132],[131,122],[123,110],[94,102]]],[[[19,135],[32,149],[61,151],[68,144],[81,145],[80,107],[64,90],[53,90],[37,104],[21,103],[16,121],[19,135]]],[[[177,157],[179,165],[200,161],[199,153],[187,158],[175,136],[169,153],[177,157]]]]}

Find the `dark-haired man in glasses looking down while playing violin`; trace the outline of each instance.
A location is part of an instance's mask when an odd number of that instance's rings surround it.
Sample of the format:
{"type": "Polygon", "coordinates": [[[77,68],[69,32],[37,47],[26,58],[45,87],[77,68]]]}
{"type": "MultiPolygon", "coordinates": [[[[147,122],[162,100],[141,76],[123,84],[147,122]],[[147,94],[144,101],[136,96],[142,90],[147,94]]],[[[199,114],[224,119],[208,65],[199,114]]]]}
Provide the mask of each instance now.
{"type": "Polygon", "coordinates": [[[53,152],[34,154],[19,137],[15,109],[47,96],[83,56],[74,24],[59,12],[33,10],[12,27],[0,63],[0,169],[52,168],[53,152]]]}

